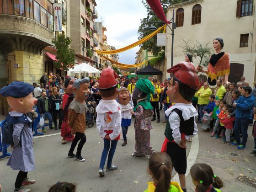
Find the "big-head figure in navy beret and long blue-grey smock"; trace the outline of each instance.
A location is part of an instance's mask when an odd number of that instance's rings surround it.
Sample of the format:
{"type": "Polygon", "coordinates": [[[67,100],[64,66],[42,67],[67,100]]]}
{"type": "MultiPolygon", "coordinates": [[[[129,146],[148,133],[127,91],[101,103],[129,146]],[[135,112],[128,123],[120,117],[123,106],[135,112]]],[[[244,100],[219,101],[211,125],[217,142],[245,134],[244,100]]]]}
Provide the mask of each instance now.
{"type": "Polygon", "coordinates": [[[33,109],[37,99],[33,98],[34,87],[28,83],[15,81],[0,90],[0,95],[6,96],[7,102],[13,109],[9,113],[8,121],[13,124],[13,148],[7,165],[13,170],[19,170],[15,181],[15,191],[30,191],[23,189],[22,185],[32,184],[35,180],[27,178],[27,172],[35,168],[32,129],[32,120],[26,113],[33,109]]]}

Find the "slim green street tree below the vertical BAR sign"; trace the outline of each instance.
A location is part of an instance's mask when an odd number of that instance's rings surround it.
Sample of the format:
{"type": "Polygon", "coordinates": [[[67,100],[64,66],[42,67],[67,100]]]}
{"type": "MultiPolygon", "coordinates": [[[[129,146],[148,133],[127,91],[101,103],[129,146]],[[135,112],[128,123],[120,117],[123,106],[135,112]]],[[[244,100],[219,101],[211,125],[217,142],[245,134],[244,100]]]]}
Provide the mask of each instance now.
{"type": "Polygon", "coordinates": [[[56,60],[53,64],[58,69],[69,70],[74,68],[75,64],[75,51],[69,48],[71,39],[60,34],[57,39],[52,40],[57,48],[56,60]]]}

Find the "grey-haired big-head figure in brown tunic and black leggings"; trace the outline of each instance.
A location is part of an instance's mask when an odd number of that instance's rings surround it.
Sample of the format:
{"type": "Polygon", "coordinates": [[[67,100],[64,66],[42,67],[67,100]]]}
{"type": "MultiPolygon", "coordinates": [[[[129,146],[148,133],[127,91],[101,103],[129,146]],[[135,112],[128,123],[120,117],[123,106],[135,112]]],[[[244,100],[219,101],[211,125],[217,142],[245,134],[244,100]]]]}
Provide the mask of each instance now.
{"type": "Polygon", "coordinates": [[[85,97],[87,96],[89,82],[90,82],[90,79],[88,77],[74,81],[73,88],[74,88],[75,98],[70,103],[69,112],[68,112],[71,134],[75,134],[75,139],[71,144],[68,156],[75,157],[75,159],[79,161],[85,161],[85,159],[81,156],[81,151],[86,142],[85,97]],[[79,140],[80,140],[80,143],[77,146],[77,151],[75,155],[73,152],[79,140]]]}

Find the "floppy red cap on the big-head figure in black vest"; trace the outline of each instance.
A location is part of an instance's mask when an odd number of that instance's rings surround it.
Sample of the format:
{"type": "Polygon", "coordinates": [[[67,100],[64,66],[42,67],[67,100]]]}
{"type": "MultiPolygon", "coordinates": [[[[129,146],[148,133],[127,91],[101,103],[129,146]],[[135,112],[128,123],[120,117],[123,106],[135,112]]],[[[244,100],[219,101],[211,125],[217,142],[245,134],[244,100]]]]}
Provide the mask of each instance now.
{"type": "Polygon", "coordinates": [[[197,76],[197,71],[192,63],[187,63],[181,61],[170,69],[167,69],[168,73],[173,73],[176,80],[180,81],[188,87],[198,90],[199,78],[197,76]]]}

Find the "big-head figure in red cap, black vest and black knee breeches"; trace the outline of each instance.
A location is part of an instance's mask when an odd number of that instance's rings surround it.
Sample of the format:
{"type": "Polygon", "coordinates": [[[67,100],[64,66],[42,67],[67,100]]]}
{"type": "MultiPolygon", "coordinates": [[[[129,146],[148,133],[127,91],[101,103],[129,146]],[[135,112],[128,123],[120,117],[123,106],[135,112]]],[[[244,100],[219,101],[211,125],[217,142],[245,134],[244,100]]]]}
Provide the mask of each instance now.
{"type": "Polygon", "coordinates": [[[166,94],[175,105],[165,111],[168,121],[161,151],[166,151],[170,155],[172,164],[179,174],[181,188],[186,191],[186,143],[187,139],[197,134],[195,117],[198,114],[191,100],[198,89],[199,79],[192,63],[180,62],[167,72],[172,73],[173,77],[166,94]]]}

